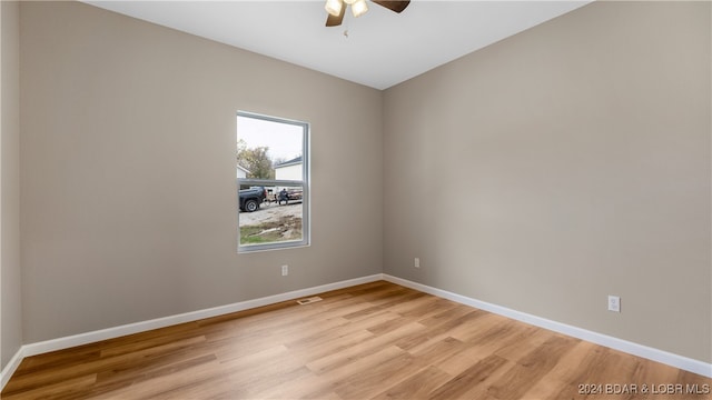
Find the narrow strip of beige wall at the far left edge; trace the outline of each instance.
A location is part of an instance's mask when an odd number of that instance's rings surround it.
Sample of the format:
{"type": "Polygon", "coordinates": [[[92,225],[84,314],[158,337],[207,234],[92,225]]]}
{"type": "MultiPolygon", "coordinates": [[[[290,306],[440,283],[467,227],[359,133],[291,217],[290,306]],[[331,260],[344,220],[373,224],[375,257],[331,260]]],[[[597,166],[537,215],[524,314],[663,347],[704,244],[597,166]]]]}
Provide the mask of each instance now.
{"type": "Polygon", "coordinates": [[[19,7],[0,2],[0,370],[22,346],[19,7]]]}

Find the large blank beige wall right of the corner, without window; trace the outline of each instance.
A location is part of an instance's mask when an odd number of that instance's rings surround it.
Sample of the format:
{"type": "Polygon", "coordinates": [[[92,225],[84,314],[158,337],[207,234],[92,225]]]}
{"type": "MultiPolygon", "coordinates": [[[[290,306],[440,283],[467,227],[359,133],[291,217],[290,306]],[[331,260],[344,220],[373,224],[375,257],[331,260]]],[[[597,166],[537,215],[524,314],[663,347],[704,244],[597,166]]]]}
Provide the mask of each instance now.
{"type": "Polygon", "coordinates": [[[387,90],[385,272],[712,361],[710,11],[595,2],[387,90]]]}

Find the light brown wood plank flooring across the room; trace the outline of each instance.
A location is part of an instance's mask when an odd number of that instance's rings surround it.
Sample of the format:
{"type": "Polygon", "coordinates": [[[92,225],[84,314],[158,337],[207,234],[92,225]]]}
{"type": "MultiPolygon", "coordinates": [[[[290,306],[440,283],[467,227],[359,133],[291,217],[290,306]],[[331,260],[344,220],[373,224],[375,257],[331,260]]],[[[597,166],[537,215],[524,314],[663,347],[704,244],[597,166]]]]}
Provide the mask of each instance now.
{"type": "Polygon", "coordinates": [[[27,358],[18,399],[710,399],[712,380],[374,282],[27,358]]]}

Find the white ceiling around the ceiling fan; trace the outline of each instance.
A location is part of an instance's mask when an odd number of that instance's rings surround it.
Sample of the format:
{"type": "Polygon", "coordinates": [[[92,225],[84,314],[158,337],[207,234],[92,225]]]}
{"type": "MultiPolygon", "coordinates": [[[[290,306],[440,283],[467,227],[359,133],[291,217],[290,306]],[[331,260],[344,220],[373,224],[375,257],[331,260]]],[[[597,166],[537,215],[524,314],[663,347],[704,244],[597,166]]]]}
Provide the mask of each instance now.
{"type": "Polygon", "coordinates": [[[336,28],[324,26],[325,0],[86,2],[386,89],[591,0],[413,0],[400,14],[369,1],[336,28]]]}

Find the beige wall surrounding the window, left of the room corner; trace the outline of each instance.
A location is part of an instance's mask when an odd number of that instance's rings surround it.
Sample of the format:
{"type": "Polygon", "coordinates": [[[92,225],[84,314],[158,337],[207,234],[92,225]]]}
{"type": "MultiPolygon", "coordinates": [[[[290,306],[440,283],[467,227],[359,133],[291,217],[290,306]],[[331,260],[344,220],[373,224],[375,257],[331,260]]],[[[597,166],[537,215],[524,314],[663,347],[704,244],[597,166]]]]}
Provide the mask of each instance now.
{"type": "Polygon", "coordinates": [[[344,189],[380,192],[379,91],[81,3],[20,16],[24,342],[383,271],[382,199],[344,189]],[[236,253],[237,110],[312,123],[312,247],[236,253]]]}

